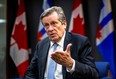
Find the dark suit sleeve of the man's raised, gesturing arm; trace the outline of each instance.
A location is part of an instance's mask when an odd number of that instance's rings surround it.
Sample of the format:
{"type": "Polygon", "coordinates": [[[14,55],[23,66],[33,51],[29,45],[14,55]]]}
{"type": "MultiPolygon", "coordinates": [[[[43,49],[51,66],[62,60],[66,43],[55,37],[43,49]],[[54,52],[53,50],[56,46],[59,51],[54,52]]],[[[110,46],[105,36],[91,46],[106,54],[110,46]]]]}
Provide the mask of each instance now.
{"type": "Polygon", "coordinates": [[[73,77],[78,79],[98,79],[94,58],[91,55],[92,47],[88,41],[84,41],[78,51],[78,59],[75,59],[75,71],[73,77]]]}

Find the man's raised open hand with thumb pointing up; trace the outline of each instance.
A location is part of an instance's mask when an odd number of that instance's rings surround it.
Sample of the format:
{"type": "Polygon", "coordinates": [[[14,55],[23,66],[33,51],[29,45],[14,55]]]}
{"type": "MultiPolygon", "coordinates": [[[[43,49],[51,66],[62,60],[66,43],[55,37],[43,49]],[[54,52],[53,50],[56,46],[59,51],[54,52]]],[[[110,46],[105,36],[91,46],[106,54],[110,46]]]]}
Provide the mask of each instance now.
{"type": "Polygon", "coordinates": [[[68,69],[71,69],[73,66],[73,59],[71,58],[70,55],[71,46],[72,44],[68,44],[65,51],[56,50],[54,53],[51,54],[51,58],[55,62],[67,67],[68,69]]]}

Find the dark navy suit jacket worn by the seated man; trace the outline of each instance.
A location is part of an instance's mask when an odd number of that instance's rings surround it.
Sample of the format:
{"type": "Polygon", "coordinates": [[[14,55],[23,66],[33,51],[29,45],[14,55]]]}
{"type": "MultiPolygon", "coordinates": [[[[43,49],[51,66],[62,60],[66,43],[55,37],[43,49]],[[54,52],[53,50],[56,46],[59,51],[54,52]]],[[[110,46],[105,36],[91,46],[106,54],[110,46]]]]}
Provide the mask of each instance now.
{"type": "MultiPolygon", "coordinates": [[[[72,43],[71,57],[75,60],[75,71],[71,74],[62,66],[63,79],[98,79],[98,72],[91,56],[91,45],[87,37],[66,33],[64,50],[67,45],[72,43]]],[[[49,38],[39,42],[36,47],[34,57],[25,73],[25,79],[44,79],[48,49],[50,46],[49,38]]]]}

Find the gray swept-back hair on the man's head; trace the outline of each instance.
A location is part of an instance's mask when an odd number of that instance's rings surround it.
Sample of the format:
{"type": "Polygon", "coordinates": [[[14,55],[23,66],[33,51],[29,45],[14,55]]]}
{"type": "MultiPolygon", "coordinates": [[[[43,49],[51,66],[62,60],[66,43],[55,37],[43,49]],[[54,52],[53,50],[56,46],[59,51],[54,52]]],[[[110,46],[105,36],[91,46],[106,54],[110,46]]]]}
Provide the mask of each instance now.
{"type": "Polygon", "coordinates": [[[59,20],[61,23],[66,22],[66,16],[64,14],[64,11],[61,7],[53,6],[51,8],[46,9],[41,15],[40,19],[42,20],[44,17],[52,14],[53,12],[56,12],[58,14],[59,20]]]}

